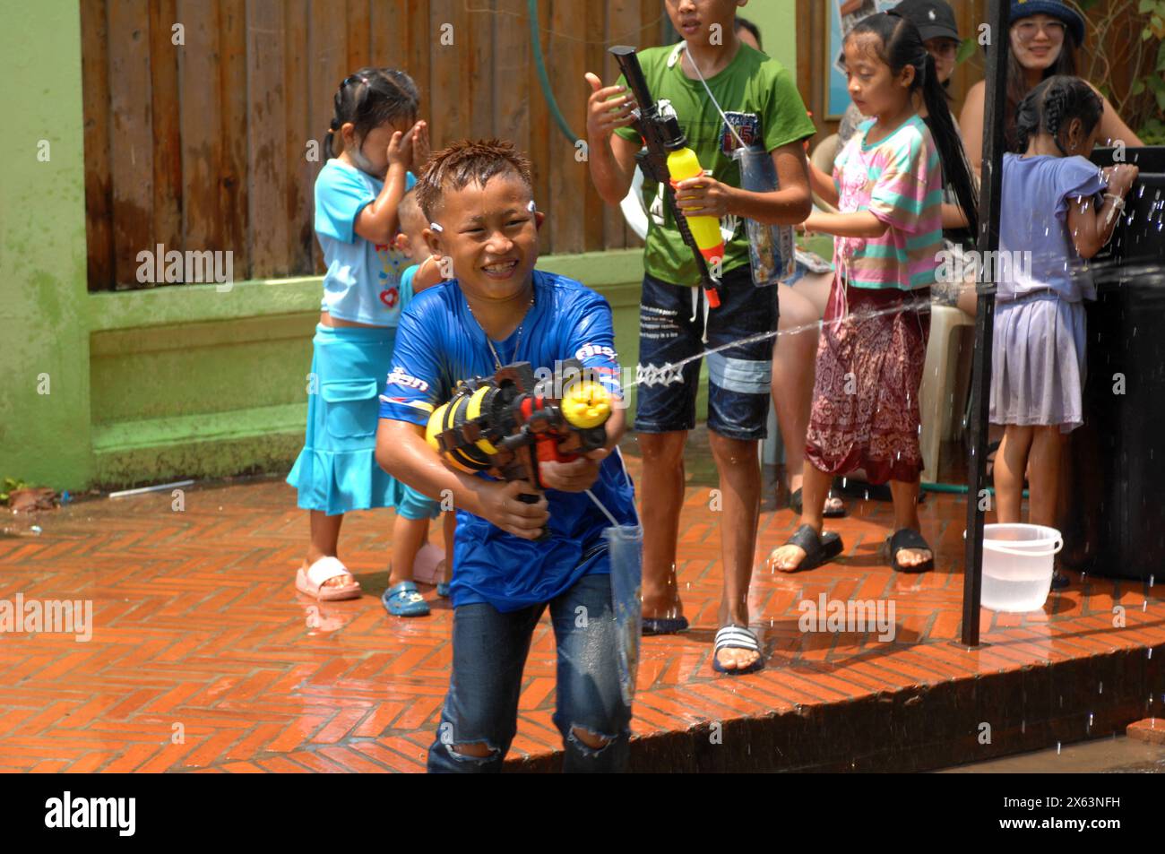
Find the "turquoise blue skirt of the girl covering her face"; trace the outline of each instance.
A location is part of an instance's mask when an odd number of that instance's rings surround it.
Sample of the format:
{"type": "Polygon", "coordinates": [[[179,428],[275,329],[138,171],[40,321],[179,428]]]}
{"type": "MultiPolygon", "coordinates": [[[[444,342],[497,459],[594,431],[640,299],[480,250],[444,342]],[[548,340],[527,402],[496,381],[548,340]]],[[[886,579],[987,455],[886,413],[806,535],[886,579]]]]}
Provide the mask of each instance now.
{"type": "Polygon", "coordinates": [[[437,515],[436,501],[418,508],[418,499],[428,499],[376,464],[380,395],[393,366],[395,340],[390,326],[316,326],[308,432],[287,479],[299,492],[301,508],[334,516],[404,504],[410,518],[437,515]]]}

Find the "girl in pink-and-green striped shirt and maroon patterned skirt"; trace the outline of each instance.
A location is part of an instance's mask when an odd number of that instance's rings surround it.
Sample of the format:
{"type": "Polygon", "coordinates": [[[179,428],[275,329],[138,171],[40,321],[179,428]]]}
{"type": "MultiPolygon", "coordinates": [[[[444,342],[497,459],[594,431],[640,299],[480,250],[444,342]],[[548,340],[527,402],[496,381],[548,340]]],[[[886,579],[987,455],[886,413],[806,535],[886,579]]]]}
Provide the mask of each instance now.
{"type": "Polygon", "coordinates": [[[835,195],[826,200],[841,213],[805,221],[807,231],[836,238],[836,276],[818,344],[802,524],[769,565],[807,570],[841,553],[841,538],[822,531],[825,500],[834,475],[862,468],[871,484],[890,481],[894,569],[923,572],[934,559],[917,510],[918,389],[942,250],[944,174],[972,228],[975,190],[918,28],[894,12],[871,15],[845,50],[849,94],[873,120],[834,165],[835,195]]]}

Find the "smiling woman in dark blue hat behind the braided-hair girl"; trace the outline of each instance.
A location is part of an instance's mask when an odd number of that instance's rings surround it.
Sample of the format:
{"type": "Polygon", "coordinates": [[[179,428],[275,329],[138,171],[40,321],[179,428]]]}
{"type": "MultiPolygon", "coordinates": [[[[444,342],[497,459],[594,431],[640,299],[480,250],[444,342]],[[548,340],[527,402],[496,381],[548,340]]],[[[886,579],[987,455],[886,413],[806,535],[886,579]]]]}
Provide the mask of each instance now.
{"type": "MultiPolygon", "coordinates": [[[[1053,75],[1078,76],[1076,54],[1085,41],[1087,22],[1072,5],[1062,0],[1011,0],[1011,55],[1008,58],[1008,108],[1004,139],[1009,151],[1016,150],[1016,117],[1019,103],[1040,80],[1053,75]]],[[[1089,83],[1089,85],[1092,85],[1089,83]]],[[[967,157],[975,171],[983,161],[983,98],[986,82],[967,92],[959,125],[967,143],[967,157]]],[[[1093,90],[1101,94],[1095,86],[1093,90]]],[[[1108,103],[1101,117],[1100,144],[1125,146],[1144,143],[1108,103]]]]}

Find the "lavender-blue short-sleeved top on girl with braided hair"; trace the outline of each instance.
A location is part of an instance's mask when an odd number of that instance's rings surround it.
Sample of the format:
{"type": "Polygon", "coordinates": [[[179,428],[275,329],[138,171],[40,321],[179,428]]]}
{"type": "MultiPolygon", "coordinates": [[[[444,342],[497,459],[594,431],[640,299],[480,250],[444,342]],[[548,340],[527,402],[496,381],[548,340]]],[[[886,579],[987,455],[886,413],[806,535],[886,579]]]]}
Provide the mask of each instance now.
{"type": "Polygon", "coordinates": [[[1003,155],[1000,252],[1011,269],[1000,270],[996,299],[1045,288],[1069,303],[1096,298],[1092,274],[1068,231],[1068,202],[1088,199],[1106,186],[1100,168],[1083,157],[1003,155]]]}

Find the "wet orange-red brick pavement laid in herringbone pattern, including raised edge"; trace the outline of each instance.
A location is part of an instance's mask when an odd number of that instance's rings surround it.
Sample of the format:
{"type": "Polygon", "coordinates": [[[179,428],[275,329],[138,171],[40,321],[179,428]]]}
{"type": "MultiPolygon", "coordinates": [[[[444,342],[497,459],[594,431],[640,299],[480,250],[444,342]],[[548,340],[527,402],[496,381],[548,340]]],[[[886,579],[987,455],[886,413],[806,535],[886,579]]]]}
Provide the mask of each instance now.
{"type": "MultiPolygon", "coordinates": [[[[633,474],[637,460],[629,459],[633,474]]],[[[91,599],[87,643],[0,635],[0,770],[421,771],[450,665],[451,612],[390,620],[390,511],[352,514],[341,557],[365,595],[296,593],[305,515],[278,480],[98,499],[44,514],[40,536],[0,538],[0,600],[91,599]],[[178,739],[177,735],[182,735],[178,739]]],[[[831,525],[843,559],[758,573],[750,597],[768,666],[709,666],[720,597],[718,514],[689,488],[679,583],[693,630],[643,641],[633,765],[926,768],[1102,735],[1165,705],[1160,587],[1079,579],[1028,615],[983,612],[988,645],[952,645],[962,595],[961,499],[930,495],[938,570],[896,576],[878,556],[890,506],[850,502],[831,525]],[[897,635],[803,634],[802,600],[892,599],[897,635]],[[1113,628],[1113,609],[1127,627],[1113,628]],[[984,743],[983,724],[990,726],[984,743]]],[[[762,515],[764,555],[795,527],[762,515]]],[[[433,532],[436,542],[438,531],[433,532]]],[[[515,768],[555,768],[553,642],[535,635],[515,768]]]]}

